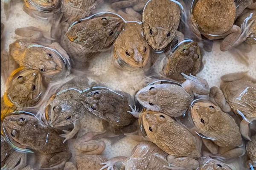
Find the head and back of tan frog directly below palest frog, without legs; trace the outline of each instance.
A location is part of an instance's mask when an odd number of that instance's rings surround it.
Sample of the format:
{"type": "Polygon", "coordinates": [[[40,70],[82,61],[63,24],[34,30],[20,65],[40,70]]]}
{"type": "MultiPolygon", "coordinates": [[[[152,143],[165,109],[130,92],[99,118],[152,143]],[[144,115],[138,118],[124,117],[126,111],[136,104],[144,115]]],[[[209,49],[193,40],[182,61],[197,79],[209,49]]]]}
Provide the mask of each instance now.
{"type": "Polygon", "coordinates": [[[146,111],[140,114],[139,119],[151,142],[166,153],[177,157],[201,156],[201,148],[198,148],[192,133],[166,114],[146,111]]]}

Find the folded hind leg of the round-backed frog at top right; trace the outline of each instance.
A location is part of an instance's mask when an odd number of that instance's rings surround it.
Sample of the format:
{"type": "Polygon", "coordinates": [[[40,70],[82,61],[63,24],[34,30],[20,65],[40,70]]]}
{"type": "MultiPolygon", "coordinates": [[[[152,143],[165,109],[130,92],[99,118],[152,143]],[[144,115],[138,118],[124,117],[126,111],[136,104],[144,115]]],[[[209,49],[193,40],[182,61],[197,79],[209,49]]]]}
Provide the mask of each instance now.
{"type": "Polygon", "coordinates": [[[221,42],[220,50],[227,51],[232,48],[232,45],[241,35],[241,28],[239,26],[233,25],[229,31],[225,33],[227,37],[221,42]]]}

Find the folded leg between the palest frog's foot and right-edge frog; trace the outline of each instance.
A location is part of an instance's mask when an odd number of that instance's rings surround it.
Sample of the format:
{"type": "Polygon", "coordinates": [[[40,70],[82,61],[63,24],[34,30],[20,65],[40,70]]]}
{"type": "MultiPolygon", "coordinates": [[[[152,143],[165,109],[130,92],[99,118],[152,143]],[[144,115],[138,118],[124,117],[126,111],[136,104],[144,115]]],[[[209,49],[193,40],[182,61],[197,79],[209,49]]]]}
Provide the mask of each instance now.
{"type": "Polygon", "coordinates": [[[221,108],[222,111],[224,112],[231,111],[230,105],[226,102],[226,98],[223,92],[219,88],[215,86],[211,87],[209,97],[210,97],[210,100],[214,104],[216,103],[221,108]]]}

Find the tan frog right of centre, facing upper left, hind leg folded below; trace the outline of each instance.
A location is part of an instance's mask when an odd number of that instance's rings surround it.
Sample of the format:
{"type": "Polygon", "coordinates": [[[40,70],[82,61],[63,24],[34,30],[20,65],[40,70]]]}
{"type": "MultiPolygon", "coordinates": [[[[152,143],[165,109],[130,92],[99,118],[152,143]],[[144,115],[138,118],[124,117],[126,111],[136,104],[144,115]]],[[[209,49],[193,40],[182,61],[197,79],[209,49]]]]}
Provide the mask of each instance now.
{"type": "Polygon", "coordinates": [[[205,136],[202,141],[212,154],[225,160],[244,154],[241,133],[232,116],[209,101],[193,103],[190,114],[195,132],[205,136]]]}

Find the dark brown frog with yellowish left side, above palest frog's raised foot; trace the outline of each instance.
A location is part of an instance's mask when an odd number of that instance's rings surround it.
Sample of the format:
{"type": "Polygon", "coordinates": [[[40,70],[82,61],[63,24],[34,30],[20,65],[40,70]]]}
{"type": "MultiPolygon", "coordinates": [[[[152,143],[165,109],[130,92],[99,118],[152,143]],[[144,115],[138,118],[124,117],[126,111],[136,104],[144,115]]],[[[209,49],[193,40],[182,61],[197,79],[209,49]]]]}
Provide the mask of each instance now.
{"type": "Polygon", "coordinates": [[[185,80],[180,73],[196,76],[201,67],[201,53],[197,42],[189,42],[166,57],[168,61],[163,65],[163,74],[180,82],[185,80]]]}

